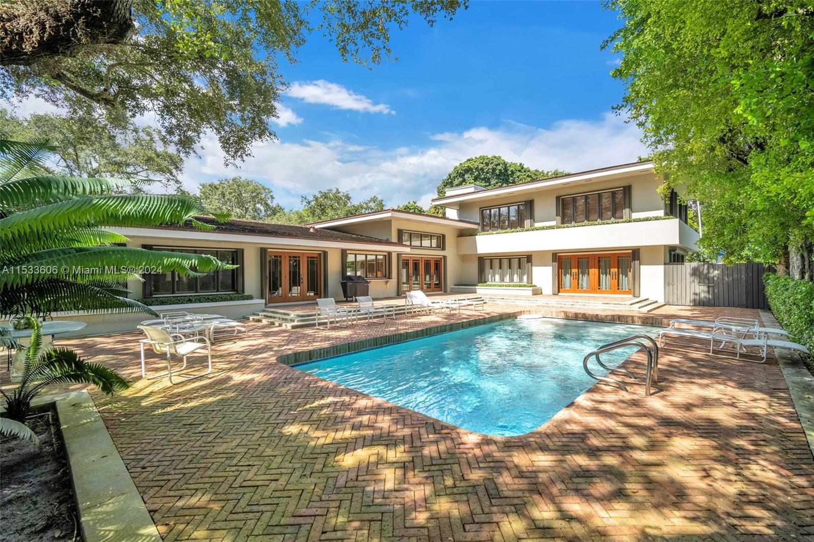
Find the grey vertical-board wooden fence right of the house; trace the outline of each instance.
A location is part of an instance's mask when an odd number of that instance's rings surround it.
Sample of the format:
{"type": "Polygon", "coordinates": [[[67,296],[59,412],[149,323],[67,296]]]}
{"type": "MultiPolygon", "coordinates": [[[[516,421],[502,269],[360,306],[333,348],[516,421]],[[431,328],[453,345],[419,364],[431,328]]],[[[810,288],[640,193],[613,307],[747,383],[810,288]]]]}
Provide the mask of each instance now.
{"type": "Polygon", "coordinates": [[[764,264],[665,264],[664,300],[696,307],[768,308],[764,264]]]}

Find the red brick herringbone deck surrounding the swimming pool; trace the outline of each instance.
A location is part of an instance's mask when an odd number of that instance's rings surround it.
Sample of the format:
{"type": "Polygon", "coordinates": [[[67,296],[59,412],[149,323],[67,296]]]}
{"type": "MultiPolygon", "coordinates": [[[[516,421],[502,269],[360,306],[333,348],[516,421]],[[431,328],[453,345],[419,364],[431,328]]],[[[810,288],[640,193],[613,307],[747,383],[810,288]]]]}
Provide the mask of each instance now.
{"type": "MultiPolygon", "coordinates": [[[[217,374],[177,386],[139,379],[138,334],[58,343],[133,378],[120,396],[92,395],[164,540],[814,535],[814,459],[773,359],[664,350],[653,396],[597,385],[518,437],[463,431],[276,361],[519,310],[533,308],[330,330],[252,323],[213,348],[217,374]]],[[[759,317],[646,316],[723,313],[759,317]]],[[[636,356],[626,364],[641,373],[636,356]]]]}

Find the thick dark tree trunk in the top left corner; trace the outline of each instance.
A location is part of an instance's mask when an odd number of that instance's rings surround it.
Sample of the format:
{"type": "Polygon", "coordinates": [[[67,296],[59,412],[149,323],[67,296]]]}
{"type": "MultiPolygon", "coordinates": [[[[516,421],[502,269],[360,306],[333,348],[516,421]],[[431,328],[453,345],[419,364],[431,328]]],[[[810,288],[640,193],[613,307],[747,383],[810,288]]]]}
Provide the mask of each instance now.
{"type": "Polygon", "coordinates": [[[30,66],[122,43],[135,31],[133,0],[18,0],[0,6],[0,65],[30,66]]]}

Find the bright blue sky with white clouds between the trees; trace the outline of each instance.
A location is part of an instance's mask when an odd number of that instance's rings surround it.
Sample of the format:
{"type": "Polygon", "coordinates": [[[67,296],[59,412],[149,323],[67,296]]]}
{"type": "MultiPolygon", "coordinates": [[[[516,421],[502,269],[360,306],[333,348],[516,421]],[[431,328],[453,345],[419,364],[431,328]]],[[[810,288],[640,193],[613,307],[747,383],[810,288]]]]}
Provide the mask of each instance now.
{"type": "MultiPolygon", "coordinates": [[[[217,139],[204,137],[182,180],[242,175],[274,190],[278,203],[339,187],[387,206],[425,207],[462,160],[502,155],[534,168],[576,172],[646,155],[641,132],[612,111],[623,87],[618,58],[600,50],[619,26],[600,2],[471,2],[452,21],[420,19],[392,31],[396,62],[344,63],[312,35],[295,65],[279,64],[276,142],[253,146],[225,168],[217,139]]],[[[42,107],[37,100],[20,113],[42,107]]]]}

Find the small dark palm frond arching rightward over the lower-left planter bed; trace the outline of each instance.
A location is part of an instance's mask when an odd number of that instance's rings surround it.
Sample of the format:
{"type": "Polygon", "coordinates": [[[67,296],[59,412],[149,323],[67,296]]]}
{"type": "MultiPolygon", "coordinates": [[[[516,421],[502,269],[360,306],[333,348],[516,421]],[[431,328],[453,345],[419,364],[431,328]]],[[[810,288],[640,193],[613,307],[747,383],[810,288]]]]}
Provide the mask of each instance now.
{"type": "Polygon", "coordinates": [[[98,363],[89,363],[70,348],[54,348],[48,352],[45,360],[32,371],[31,379],[37,381],[31,387],[32,394],[50,384],[66,382],[92,383],[107,395],[130,387],[112,369],[98,363]]]}

